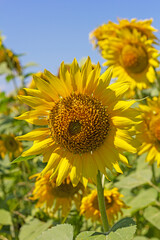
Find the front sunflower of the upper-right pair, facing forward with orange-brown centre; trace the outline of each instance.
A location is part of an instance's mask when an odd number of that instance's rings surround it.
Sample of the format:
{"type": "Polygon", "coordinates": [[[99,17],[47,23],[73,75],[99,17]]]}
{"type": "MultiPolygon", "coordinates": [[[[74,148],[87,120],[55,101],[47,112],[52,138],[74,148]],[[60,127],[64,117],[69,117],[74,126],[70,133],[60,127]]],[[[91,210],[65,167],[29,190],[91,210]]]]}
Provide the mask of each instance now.
{"type": "Polygon", "coordinates": [[[130,33],[123,29],[119,37],[110,38],[104,46],[102,56],[108,61],[104,65],[113,66],[113,77],[124,84],[129,83],[129,94],[137,89],[146,89],[156,79],[154,68],[159,66],[158,51],[137,30],[130,33]],[[109,50],[108,50],[109,49],[109,50]]]}

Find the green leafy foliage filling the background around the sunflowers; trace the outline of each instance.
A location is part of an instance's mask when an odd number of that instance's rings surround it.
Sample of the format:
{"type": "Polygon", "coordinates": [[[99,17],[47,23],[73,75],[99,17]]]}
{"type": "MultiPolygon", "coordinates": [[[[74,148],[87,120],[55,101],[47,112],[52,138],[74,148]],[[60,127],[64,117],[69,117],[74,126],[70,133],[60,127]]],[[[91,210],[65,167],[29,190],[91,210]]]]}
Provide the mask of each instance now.
{"type": "MultiPolygon", "coordinates": [[[[1,41],[0,41],[1,42],[1,41]]],[[[2,47],[7,50],[4,44],[2,47]]],[[[1,49],[1,48],[0,48],[1,49]]],[[[21,56],[22,57],[22,56],[21,56]]],[[[22,135],[35,129],[30,123],[15,119],[29,107],[21,104],[17,93],[26,95],[22,90],[28,87],[27,79],[32,79],[28,70],[34,63],[22,66],[19,56],[13,53],[11,59],[0,62],[0,74],[7,82],[12,81],[14,91],[10,94],[0,92],[0,239],[7,240],[158,240],[160,236],[160,172],[156,162],[145,161],[146,153],[125,153],[132,167],[121,166],[124,174],[111,175],[110,182],[105,179],[104,188],[117,187],[123,194],[127,206],[118,214],[117,221],[107,233],[103,232],[101,222],[91,222],[80,215],[73,204],[67,216],[62,216],[61,209],[55,214],[46,209],[36,208],[36,201],[31,200],[34,188],[32,175],[40,173],[46,163],[42,156],[14,156],[3,146],[3,135],[22,135]],[[18,59],[18,60],[17,60],[18,59]],[[20,69],[17,68],[17,62],[20,69]],[[17,83],[18,81],[18,83],[17,83]]],[[[148,89],[134,89],[134,98],[146,104],[146,98],[159,95],[160,74],[155,69],[156,81],[148,89]]],[[[23,141],[23,151],[32,143],[23,141]]],[[[95,185],[88,184],[89,189],[95,185]]],[[[54,206],[53,206],[54,207],[54,206]]]]}

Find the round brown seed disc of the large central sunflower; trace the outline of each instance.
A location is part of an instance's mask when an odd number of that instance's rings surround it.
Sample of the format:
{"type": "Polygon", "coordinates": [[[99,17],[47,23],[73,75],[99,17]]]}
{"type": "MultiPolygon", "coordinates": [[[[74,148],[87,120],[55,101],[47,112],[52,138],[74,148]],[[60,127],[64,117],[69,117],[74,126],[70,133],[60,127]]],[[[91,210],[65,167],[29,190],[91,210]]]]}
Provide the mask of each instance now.
{"type": "Polygon", "coordinates": [[[96,98],[71,94],[55,104],[49,114],[49,127],[53,139],[65,149],[87,153],[103,144],[109,131],[108,114],[96,98]]]}

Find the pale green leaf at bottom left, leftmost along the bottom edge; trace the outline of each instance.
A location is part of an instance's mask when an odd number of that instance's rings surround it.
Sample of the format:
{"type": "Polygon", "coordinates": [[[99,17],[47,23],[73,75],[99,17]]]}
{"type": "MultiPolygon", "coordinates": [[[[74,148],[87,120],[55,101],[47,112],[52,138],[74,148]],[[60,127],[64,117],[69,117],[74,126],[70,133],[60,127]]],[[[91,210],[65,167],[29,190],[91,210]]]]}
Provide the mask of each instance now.
{"type": "Polygon", "coordinates": [[[51,224],[52,220],[48,222],[42,222],[36,218],[32,219],[21,227],[19,240],[35,240],[35,238],[48,229],[51,224]]]}

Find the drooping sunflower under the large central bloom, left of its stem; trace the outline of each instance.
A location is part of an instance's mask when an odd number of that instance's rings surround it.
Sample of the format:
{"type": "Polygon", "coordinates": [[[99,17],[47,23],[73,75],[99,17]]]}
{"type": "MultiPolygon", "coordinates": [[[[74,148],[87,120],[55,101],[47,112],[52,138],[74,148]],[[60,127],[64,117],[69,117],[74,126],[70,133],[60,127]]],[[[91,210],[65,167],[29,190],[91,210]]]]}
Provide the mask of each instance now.
{"type": "Polygon", "coordinates": [[[38,200],[36,207],[42,208],[48,213],[54,214],[58,209],[61,209],[62,216],[66,217],[71,210],[72,203],[75,204],[77,210],[80,208],[81,199],[86,191],[82,183],[78,183],[73,187],[71,180],[67,177],[60,186],[56,186],[56,178],[50,180],[52,170],[46,173],[43,177],[41,174],[37,176],[35,188],[33,190],[32,200],[38,200]]]}

